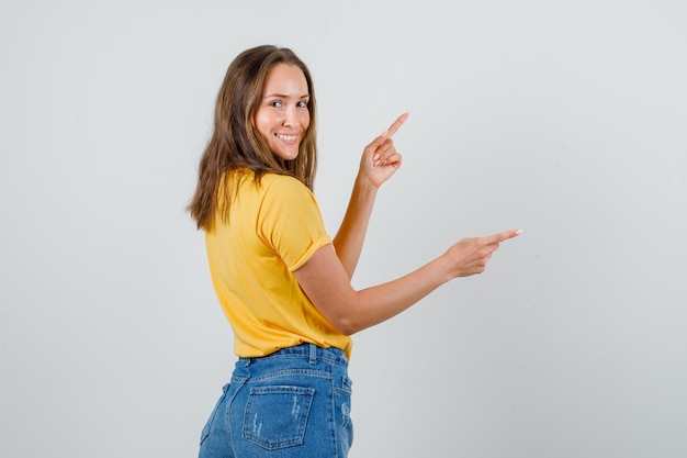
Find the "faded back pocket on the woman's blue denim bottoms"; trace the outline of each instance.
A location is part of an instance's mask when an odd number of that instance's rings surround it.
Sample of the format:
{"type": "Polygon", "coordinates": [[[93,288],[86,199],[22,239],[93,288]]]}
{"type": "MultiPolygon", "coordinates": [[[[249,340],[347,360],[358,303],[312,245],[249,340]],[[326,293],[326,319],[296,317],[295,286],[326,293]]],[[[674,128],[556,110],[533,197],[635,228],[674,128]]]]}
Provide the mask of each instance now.
{"type": "Polygon", "coordinates": [[[244,413],[243,437],[268,450],[303,444],[315,389],[254,387],[244,413]]]}

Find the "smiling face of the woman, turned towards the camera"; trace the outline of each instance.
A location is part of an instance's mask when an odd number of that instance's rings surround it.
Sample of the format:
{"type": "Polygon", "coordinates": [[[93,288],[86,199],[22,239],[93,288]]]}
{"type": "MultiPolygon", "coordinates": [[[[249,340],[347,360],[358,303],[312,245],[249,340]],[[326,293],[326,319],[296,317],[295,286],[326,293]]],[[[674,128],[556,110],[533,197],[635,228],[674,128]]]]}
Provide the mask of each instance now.
{"type": "Polygon", "coordinates": [[[278,64],[267,74],[254,122],[272,154],[283,160],[299,156],[311,124],[308,101],[305,75],[295,65],[278,64]]]}

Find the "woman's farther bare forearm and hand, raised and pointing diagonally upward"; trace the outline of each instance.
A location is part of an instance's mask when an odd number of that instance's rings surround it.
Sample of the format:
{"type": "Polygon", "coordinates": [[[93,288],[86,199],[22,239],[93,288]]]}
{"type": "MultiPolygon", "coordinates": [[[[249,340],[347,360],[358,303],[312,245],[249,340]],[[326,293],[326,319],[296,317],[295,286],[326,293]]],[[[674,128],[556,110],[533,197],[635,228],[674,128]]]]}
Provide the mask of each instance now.
{"type": "Polygon", "coordinates": [[[348,209],[341,227],[333,241],[349,279],[353,277],[360,259],[376,192],[401,167],[402,157],[394,146],[392,136],[407,119],[408,113],[398,116],[388,130],[365,146],[362,153],[348,209]]]}

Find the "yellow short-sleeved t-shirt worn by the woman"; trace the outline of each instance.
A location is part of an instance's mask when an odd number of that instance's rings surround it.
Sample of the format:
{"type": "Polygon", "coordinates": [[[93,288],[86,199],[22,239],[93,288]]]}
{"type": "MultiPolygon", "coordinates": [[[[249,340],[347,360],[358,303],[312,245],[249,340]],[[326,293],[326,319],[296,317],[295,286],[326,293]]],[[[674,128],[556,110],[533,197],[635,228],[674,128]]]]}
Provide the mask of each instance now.
{"type": "Polygon", "coordinates": [[[350,357],[351,338],[317,311],[293,276],[330,243],[315,197],[301,181],[267,174],[256,186],[247,175],[228,223],[216,215],[205,232],[210,272],[236,355],[259,357],[312,343],[350,357]]]}

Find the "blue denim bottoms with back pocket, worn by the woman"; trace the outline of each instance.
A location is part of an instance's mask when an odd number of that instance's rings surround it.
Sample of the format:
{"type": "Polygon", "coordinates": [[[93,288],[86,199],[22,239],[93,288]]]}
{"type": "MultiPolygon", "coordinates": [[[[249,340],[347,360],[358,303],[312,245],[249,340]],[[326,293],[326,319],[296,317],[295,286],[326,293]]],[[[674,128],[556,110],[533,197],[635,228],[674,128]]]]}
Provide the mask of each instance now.
{"type": "Polygon", "coordinates": [[[313,344],[239,358],[199,458],[345,458],[353,440],[348,360],[313,344]]]}

